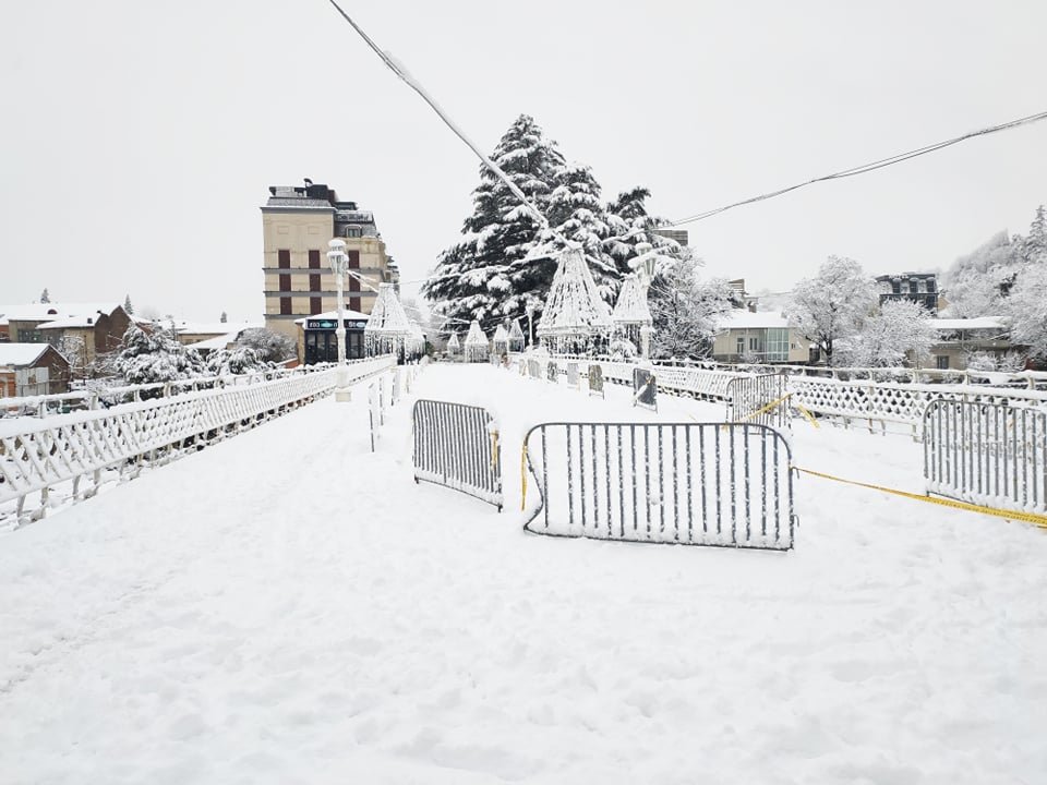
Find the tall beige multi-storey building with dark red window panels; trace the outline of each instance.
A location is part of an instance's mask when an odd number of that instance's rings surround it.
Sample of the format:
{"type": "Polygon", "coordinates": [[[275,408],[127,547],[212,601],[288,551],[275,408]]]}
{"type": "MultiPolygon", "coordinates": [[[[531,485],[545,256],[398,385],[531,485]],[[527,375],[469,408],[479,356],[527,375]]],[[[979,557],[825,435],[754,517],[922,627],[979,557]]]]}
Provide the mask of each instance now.
{"type": "Polygon", "coordinates": [[[399,288],[399,274],[386,255],[374,215],[356,202],[339,202],[334,189],[305,180],[304,185],[270,185],[262,207],[265,326],[300,342],[296,319],[338,307],[327,243],[346,241],[350,275],[345,307],[370,314],[378,283],[399,288]]]}

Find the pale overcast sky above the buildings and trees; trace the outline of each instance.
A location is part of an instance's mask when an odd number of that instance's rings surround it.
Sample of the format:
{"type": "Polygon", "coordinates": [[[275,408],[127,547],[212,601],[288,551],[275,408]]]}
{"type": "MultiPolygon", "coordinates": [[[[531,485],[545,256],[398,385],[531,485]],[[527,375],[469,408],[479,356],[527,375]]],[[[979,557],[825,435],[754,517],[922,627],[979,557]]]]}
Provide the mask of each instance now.
{"type": "MultiPolygon", "coordinates": [[[[12,3],[0,303],[261,319],[273,184],[375,213],[405,293],[479,161],[327,0],[12,3]]],[[[351,2],[491,152],[521,112],[604,197],[669,219],[1047,109],[1044,0],[351,2]]],[[[1047,121],[691,224],[705,276],[780,291],[829,254],[946,268],[1047,203],[1047,121]]]]}

